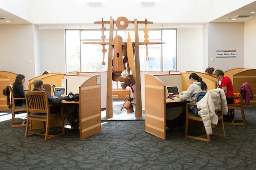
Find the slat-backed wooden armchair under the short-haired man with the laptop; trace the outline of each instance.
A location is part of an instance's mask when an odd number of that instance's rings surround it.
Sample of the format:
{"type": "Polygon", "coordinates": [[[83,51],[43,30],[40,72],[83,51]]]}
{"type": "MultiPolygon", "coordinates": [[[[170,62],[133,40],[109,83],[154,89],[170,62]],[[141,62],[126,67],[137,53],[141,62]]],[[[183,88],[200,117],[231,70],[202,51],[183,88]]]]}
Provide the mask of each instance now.
{"type": "Polygon", "coordinates": [[[61,113],[50,114],[50,105],[48,103],[48,98],[45,92],[25,91],[25,98],[27,103],[27,126],[25,137],[41,135],[45,136],[44,140],[49,140],[65,134],[64,117],[61,115],[61,113]],[[61,119],[62,133],[58,135],[50,135],[50,121],[55,119],[61,119]],[[44,128],[41,132],[28,134],[30,120],[43,121],[44,123],[46,122],[46,128],[44,128]]]}

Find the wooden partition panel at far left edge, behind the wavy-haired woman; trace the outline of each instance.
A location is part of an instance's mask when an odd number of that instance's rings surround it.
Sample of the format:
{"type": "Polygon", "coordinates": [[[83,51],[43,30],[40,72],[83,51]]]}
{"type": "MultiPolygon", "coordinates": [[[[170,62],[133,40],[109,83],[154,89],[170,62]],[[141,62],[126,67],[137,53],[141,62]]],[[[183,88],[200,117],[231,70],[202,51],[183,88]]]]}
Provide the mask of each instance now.
{"type": "Polygon", "coordinates": [[[0,111],[2,110],[10,110],[6,104],[6,96],[3,95],[2,90],[10,85],[10,78],[0,75],[0,89],[1,89],[1,93],[0,93],[0,111]]]}

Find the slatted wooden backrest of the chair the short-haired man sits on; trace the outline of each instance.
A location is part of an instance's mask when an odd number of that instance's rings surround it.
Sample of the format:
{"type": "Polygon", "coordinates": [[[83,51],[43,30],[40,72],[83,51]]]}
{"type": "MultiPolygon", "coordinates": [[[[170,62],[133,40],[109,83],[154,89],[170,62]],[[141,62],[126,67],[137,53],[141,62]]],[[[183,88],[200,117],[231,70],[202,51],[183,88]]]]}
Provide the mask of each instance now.
{"type": "Polygon", "coordinates": [[[45,92],[24,91],[27,105],[27,113],[46,113],[49,114],[49,103],[45,92]]]}

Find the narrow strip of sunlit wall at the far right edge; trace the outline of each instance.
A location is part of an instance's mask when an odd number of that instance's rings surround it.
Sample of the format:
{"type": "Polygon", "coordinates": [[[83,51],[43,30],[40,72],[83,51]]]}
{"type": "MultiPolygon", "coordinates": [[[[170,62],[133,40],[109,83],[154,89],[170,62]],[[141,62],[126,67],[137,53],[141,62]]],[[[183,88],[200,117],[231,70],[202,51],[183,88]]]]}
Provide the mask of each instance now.
{"type": "Polygon", "coordinates": [[[244,68],[256,68],[256,19],[244,23],[244,68]]]}

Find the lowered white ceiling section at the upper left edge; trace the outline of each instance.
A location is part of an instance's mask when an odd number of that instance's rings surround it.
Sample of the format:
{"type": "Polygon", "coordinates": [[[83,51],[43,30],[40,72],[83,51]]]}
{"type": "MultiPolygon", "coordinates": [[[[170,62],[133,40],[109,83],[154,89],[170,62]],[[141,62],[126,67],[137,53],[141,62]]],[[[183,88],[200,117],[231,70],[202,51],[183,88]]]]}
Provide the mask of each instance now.
{"type": "Polygon", "coordinates": [[[6,20],[0,20],[0,24],[31,24],[30,22],[20,17],[17,17],[16,15],[13,15],[1,8],[0,8],[0,17],[7,18],[7,21],[10,21],[10,22],[6,22],[6,20]]]}

